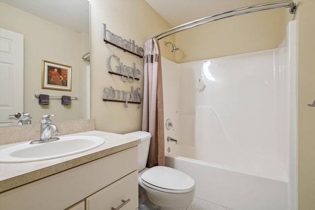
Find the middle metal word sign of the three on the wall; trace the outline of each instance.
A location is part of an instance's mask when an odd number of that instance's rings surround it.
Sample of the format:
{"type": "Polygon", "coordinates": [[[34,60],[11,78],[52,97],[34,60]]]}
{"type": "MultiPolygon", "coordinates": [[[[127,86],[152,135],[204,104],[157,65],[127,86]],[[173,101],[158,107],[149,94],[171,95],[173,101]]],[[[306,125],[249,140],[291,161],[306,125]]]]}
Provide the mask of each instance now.
{"type": "Polygon", "coordinates": [[[109,72],[108,73],[115,73],[116,75],[122,76],[122,80],[124,82],[133,83],[134,80],[139,80],[141,71],[136,68],[136,64],[133,63],[133,67],[129,67],[124,65],[123,62],[120,62],[120,58],[115,55],[111,55],[107,61],[109,72]],[[112,69],[112,62],[116,62],[116,72],[112,69]]]}

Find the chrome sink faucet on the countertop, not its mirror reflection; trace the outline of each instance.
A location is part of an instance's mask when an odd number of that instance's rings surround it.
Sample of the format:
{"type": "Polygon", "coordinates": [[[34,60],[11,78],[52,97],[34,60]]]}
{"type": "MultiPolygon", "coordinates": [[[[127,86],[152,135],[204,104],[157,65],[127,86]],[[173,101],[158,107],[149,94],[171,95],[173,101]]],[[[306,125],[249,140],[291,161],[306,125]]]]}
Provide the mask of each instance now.
{"type": "Polygon", "coordinates": [[[34,140],[30,144],[40,144],[44,142],[52,142],[59,140],[58,137],[51,137],[51,130],[53,133],[59,134],[59,130],[55,124],[52,123],[50,120],[50,117],[55,117],[56,115],[44,115],[42,119],[39,121],[40,122],[40,139],[39,140],[34,140]]]}

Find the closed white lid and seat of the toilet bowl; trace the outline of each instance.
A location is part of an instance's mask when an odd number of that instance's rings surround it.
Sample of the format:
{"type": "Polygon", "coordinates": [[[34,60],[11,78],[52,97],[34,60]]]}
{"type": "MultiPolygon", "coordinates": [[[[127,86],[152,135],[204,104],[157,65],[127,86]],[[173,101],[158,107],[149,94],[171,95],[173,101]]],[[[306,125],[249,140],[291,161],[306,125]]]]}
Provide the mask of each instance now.
{"type": "Polygon", "coordinates": [[[184,172],[165,167],[155,166],[141,175],[142,183],[164,192],[190,192],[195,182],[184,172]]]}

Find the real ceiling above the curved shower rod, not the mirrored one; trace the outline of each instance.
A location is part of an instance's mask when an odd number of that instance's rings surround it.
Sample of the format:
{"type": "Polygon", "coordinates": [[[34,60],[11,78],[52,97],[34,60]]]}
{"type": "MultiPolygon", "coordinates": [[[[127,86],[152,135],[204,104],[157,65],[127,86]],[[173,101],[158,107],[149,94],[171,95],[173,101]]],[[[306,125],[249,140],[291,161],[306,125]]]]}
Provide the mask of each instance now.
{"type": "Polygon", "coordinates": [[[172,27],[219,12],[277,0],[146,0],[172,27]]]}

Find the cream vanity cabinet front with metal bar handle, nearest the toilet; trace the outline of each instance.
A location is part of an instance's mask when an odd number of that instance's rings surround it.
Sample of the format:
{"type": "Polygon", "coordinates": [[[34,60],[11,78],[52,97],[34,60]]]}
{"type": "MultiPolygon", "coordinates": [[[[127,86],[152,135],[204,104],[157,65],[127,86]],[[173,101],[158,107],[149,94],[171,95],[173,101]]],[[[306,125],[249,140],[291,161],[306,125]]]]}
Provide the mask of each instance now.
{"type": "Polygon", "coordinates": [[[115,181],[86,198],[86,210],[134,210],[138,208],[138,171],[115,181]]]}

